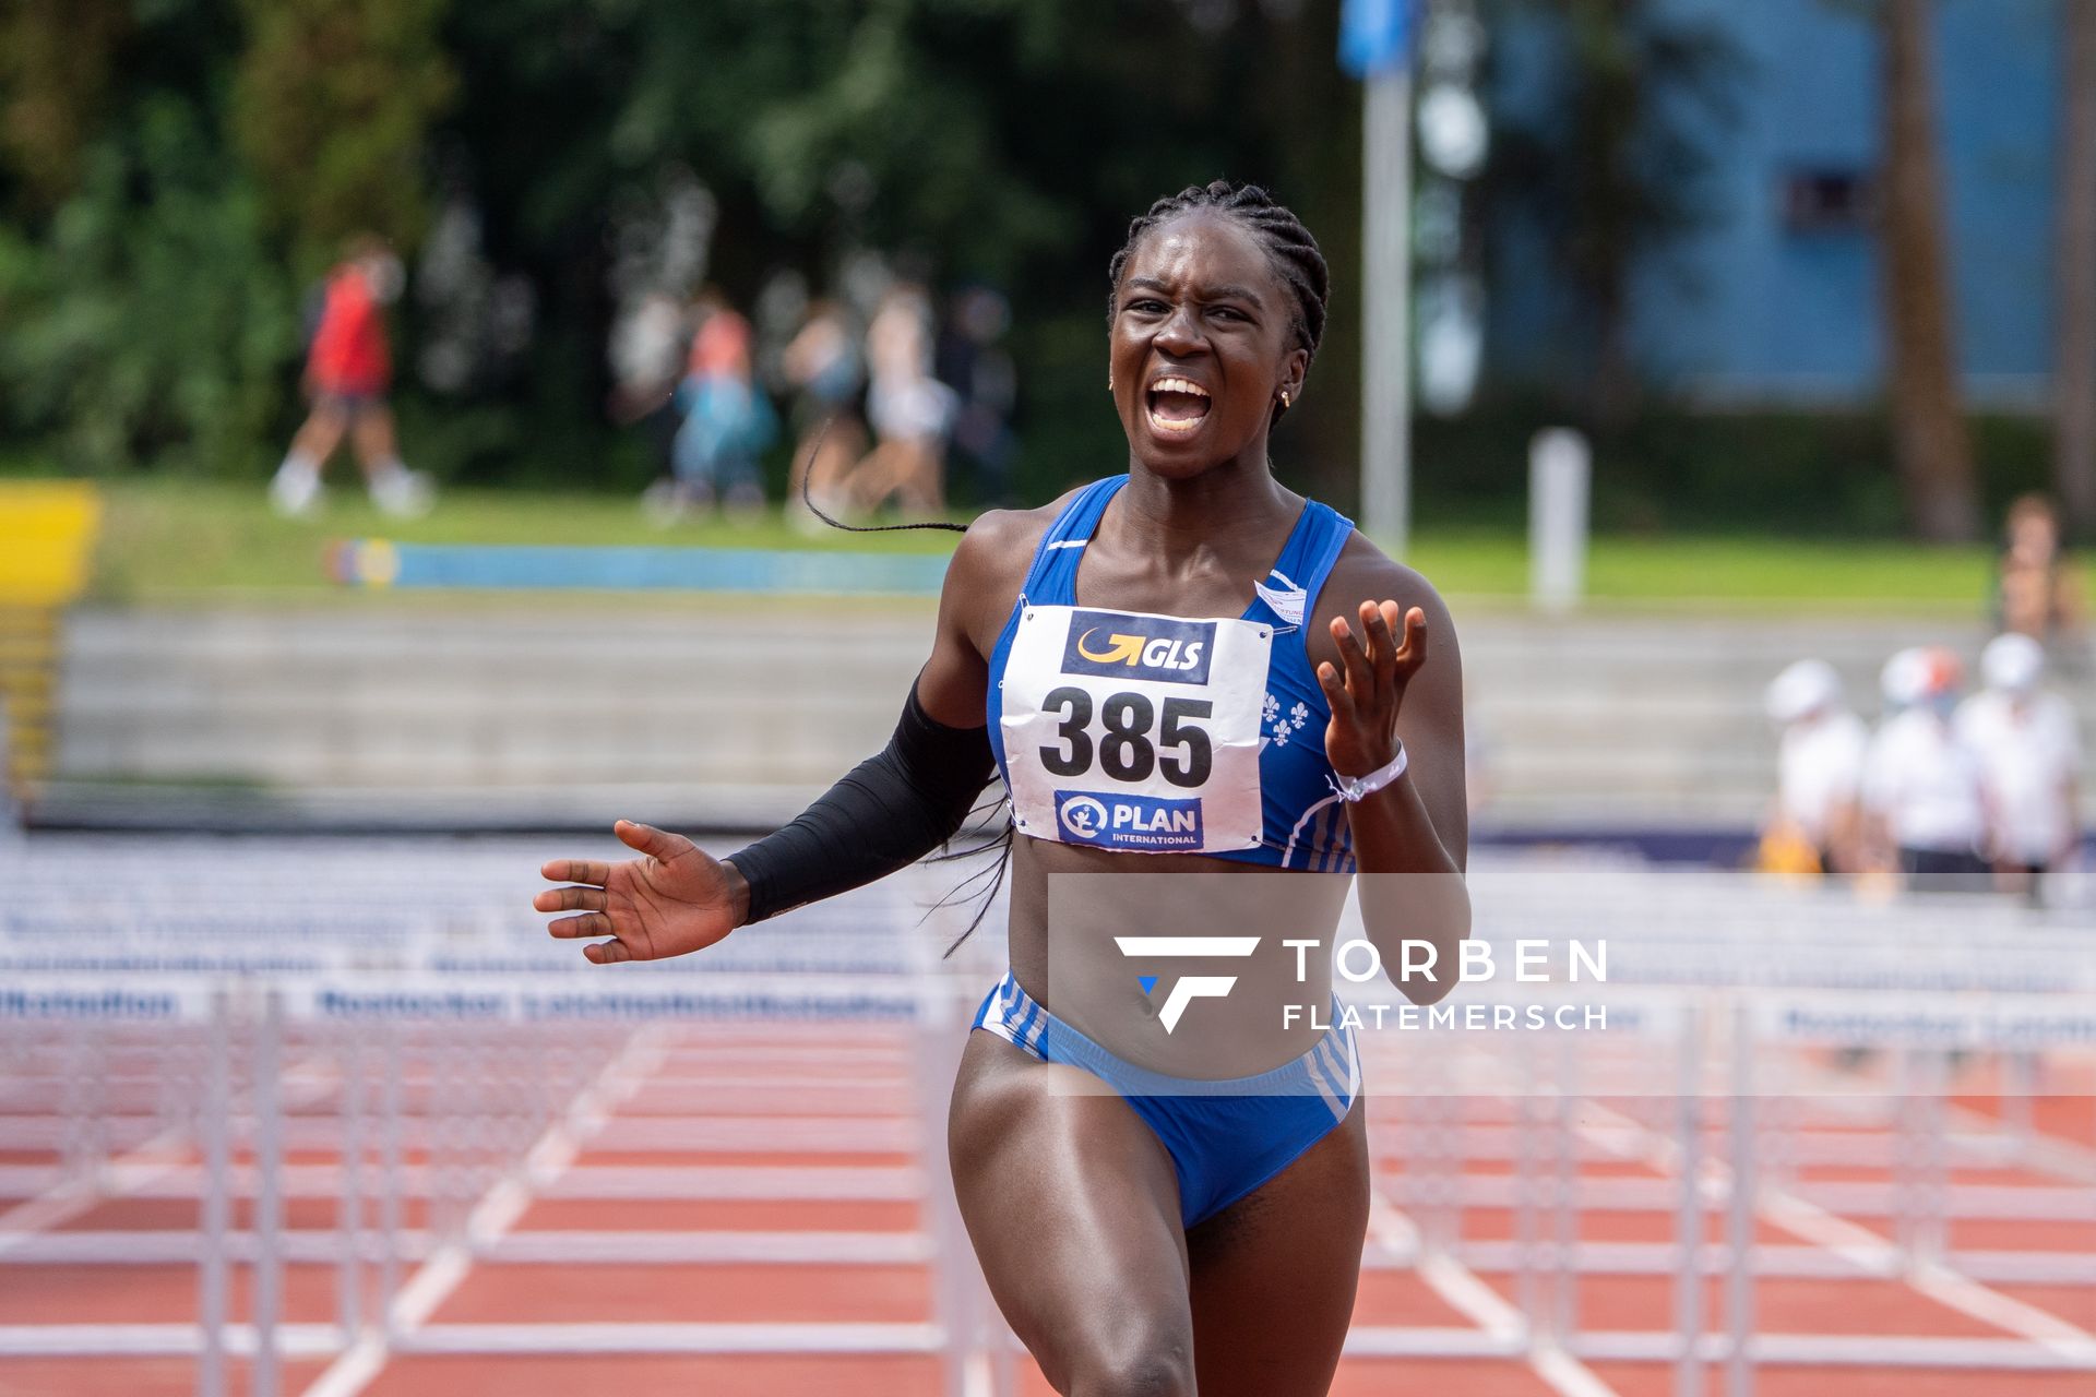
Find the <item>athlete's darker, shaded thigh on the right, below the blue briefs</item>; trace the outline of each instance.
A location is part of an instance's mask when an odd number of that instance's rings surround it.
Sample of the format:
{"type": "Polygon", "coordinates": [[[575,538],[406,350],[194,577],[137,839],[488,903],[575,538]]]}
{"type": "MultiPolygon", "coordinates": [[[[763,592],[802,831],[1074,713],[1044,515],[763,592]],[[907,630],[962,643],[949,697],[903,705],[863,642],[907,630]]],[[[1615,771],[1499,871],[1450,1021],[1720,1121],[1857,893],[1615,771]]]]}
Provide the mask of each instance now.
{"type": "Polygon", "coordinates": [[[1186,1236],[1201,1397],[1323,1397],[1331,1387],[1369,1229],[1362,1102],[1186,1236]]]}

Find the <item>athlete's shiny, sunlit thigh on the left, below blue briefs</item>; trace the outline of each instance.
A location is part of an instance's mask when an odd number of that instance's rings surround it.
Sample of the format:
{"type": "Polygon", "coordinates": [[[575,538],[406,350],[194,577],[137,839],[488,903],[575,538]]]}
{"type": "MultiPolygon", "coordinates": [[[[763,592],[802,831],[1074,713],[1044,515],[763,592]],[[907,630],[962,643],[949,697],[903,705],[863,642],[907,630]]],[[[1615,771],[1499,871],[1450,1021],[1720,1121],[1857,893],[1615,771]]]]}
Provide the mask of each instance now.
{"type": "Polygon", "coordinates": [[[1128,1102],[970,1033],[947,1144],[989,1290],[1056,1391],[1193,1391],[1178,1179],[1128,1102]]]}

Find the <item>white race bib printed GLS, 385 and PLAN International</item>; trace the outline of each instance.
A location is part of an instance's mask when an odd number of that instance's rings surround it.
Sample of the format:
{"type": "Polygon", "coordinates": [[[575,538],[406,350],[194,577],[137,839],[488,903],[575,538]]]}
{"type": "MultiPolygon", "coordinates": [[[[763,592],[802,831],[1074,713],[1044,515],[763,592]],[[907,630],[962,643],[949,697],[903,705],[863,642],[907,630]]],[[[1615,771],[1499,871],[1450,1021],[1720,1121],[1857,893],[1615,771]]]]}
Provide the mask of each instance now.
{"type": "Polygon", "coordinates": [[[1017,829],[1126,852],[1253,848],[1272,643],[1253,620],[1025,605],[1002,681],[1017,829]]]}

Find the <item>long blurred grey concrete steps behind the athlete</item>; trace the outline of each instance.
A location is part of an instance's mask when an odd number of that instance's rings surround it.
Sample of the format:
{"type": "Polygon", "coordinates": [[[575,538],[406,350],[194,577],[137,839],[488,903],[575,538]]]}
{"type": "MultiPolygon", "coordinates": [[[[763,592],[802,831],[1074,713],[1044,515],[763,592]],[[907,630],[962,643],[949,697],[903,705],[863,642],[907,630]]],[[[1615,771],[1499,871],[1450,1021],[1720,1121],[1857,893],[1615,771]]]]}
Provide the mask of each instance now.
{"type": "MultiPolygon", "coordinates": [[[[1926,616],[1455,612],[1486,819],[1509,821],[1752,823],[1775,670],[1826,658],[1874,714],[1893,649],[1985,641],[1926,616]]],[[[931,630],[924,603],[80,609],[50,800],[516,825],[639,798],[763,823],[887,739],[931,630]]],[[[2058,683],[2088,723],[2096,683],[2058,683]]]]}

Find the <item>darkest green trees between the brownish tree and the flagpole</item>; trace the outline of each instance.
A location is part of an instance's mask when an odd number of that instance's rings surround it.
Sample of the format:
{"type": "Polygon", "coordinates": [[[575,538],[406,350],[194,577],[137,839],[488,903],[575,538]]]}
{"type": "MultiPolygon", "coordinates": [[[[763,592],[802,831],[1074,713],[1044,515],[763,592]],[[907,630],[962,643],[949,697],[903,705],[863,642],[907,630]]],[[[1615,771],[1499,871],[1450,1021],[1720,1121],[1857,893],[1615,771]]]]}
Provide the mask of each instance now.
{"type": "Polygon", "coordinates": [[[1029,492],[1115,469],[1105,266],[1153,199],[1262,180],[1325,241],[1335,320],[1312,413],[1281,448],[1348,488],[1358,241],[1358,90],[1333,59],[1337,2],[511,0],[457,6],[459,103],[440,130],[488,214],[490,251],[541,287],[514,394],[595,421],[606,212],[690,168],[721,203],[711,279],[744,306],[765,274],[834,285],[845,251],[901,256],[1014,304],[1029,492]]]}

